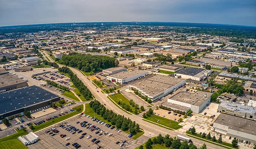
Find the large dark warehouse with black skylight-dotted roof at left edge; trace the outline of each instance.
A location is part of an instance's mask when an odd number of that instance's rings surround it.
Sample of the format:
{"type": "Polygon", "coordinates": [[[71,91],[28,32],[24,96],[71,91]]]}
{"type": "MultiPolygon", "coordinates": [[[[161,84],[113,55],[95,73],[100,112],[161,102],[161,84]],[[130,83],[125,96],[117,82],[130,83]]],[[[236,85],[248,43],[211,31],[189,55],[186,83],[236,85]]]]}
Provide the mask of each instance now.
{"type": "Polygon", "coordinates": [[[28,86],[0,94],[0,123],[4,118],[17,118],[24,115],[24,109],[34,113],[50,107],[50,102],[60,98],[38,86],[28,86]]]}

